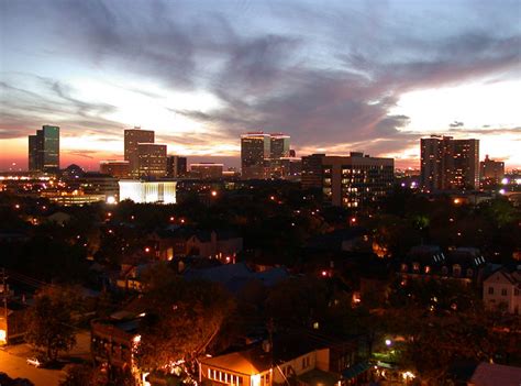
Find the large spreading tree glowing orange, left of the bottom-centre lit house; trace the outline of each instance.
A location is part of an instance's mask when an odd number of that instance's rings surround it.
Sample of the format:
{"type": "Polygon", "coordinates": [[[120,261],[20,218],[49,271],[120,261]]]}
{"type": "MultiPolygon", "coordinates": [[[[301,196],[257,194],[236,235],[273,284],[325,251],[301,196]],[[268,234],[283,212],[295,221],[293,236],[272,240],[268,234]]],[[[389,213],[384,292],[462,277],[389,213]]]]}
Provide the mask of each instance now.
{"type": "Polygon", "coordinates": [[[146,371],[171,368],[204,352],[232,315],[234,301],[218,284],[175,279],[152,287],[144,298],[149,305],[141,328],[136,360],[146,371]]]}

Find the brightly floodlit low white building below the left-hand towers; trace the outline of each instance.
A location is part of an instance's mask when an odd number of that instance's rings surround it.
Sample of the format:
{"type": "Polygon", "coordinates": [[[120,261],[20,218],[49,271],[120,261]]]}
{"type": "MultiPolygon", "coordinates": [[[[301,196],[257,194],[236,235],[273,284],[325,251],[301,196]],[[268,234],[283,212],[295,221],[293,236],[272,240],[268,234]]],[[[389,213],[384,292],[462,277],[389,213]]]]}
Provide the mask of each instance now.
{"type": "Polygon", "coordinates": [[[119,185],[120,201],[176,203],[176,181],[122,179],[119,185]]]}

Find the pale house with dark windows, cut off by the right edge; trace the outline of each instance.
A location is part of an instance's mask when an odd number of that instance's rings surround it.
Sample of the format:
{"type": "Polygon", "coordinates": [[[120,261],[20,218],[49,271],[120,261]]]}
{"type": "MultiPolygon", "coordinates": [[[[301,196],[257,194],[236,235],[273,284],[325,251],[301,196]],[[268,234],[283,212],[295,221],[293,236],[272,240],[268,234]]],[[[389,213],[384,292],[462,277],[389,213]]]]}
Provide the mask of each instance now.
{"type": "Polygon", "coordinates": [[[521,315],[521,266],[502,267],[483,283],[483,300],[490,310],[505,308],[509,313],[521,315]]]}

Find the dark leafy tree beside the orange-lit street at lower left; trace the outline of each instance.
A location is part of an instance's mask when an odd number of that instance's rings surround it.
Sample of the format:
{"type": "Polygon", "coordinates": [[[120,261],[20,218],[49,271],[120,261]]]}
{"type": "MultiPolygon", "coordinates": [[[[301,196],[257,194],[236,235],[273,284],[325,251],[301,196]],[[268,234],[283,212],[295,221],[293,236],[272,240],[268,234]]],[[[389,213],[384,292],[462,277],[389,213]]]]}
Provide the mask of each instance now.
{"type": "Polygon", "coordinates": [[[29,311],[26,341],[42,349],[48,360],[55,361],[58,351],[68,351],[76,344],[71,312],[77,293],[69,287],[47,287],[35,296],[29,311]]]}

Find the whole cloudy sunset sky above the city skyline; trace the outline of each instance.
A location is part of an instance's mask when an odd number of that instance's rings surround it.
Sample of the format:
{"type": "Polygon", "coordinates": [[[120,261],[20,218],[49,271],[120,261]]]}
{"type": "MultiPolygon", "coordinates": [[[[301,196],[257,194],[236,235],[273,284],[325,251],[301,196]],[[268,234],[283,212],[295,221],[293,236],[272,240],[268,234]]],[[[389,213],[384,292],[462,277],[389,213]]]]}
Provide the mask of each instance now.
{"type": "Polygon", "coordinates": [[[226,166],[262,130],[397,166],[421,136],[477,137],[521,167],[521,2],[0,0],[0,169],[42,124],[62,167],[122,159],[131,126],[226,166]]]}

